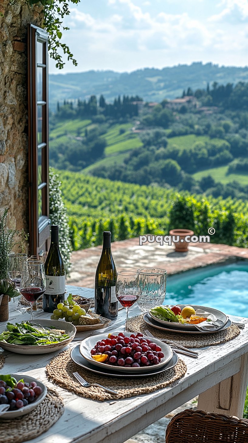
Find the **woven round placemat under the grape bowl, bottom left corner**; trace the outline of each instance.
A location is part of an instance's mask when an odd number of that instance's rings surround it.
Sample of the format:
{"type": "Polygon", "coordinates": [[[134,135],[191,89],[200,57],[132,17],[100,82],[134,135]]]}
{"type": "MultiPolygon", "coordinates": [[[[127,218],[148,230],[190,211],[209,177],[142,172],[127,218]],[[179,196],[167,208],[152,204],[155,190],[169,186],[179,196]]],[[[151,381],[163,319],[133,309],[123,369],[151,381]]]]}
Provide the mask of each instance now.
{"type": "Polygon", "coordinates": [[[44,400],[29,414],[12,420],[0,419],[0,442],[21,443],[46,432],[64,413],[62,397],[47,389],[44,400]]]}

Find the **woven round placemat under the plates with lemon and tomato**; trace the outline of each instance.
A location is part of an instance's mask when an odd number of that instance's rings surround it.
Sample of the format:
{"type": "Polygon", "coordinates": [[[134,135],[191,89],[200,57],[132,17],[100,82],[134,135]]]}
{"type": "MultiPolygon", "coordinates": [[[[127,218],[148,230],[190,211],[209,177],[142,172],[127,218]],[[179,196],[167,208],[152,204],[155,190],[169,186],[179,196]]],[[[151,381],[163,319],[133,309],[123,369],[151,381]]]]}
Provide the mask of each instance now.
{"type": "Polygon", "coordinates": [[[128,320],[128,330],[130,332],[143,332],[149,330],[154,337],[158,339],[168,339],[177,342],[179,345],[186,346],[186,348],[204,348],[205,346],[215,346],[221,343],[229,342],[240,334],[237,326],[230,326],[225,330],[216,332],[215,334],[179,334],[169,331],[162,331],[156,329],[143,320],[143,314],[136,315],[128,320]]]}

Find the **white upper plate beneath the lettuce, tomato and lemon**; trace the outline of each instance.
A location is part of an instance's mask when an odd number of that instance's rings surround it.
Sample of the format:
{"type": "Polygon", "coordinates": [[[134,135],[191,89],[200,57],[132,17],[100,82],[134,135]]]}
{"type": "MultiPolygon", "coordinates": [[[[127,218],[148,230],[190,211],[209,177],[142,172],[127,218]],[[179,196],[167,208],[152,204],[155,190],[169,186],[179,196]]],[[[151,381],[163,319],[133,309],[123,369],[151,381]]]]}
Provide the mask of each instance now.
{"type": "MultiPolygon", "coordinates": [[[[163,305],[165,306],[165,305],[163,305]]],[[[169,308],[173,307],[174,305],[167,305],[169,308]]],[[[223,312],[218,311],[217,309],[213,309],[212,307],[205,307],[205,306],[198,306],[198,305],[187,305],[187,304],[177,304],[176,306],[179,306],[181,309],[183,309],[185,306],[192,306],[194,307],[194,310],[197,311],[202,310],[205,312],[209,312],[209,314],[212,314],[216,317],[216,319],[221,320],[223,322],[223,326],[225,326],[225,324],[228,321],[228,317],[227,315],[225,315],[223,312]]],[[[161,325],[166,326],[167,328],[170,329],[178,329],[178,330],[191,330],[191,331],[198,331],[198,328],[195,327],[195,325],[190,325],[190,324],[181,324],[181,323],[175,323],[175,322],[167,322],[165,320],[160,320],[157,317],[155,317],[154,315],[151,314],[151,310],[148,311],[150,317],[155,320],[157,323],[160,323],[161,325]]],[[[200,314],[199,314],[200,315],[200,314]]]]}

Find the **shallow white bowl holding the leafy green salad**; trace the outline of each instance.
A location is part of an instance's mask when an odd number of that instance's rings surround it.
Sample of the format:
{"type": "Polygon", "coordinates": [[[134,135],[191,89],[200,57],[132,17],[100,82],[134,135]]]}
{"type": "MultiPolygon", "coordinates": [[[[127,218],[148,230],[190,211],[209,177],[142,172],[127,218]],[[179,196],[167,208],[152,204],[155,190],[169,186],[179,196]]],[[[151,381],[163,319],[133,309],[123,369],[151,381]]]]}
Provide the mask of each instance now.
{"type": "MultiPolygon", "coordinates": [[[[14,323],[14,322],[13,322],[14,323]]],[[[48,354],[50,352],[58,351],[74,339],[77,332],[75,326],[69,322],[61,322],[59,320],[46,320],[46,319],[35,319],[31,322],[33,325],[37,326],[54,326],[56,329],[65,330],[66,334],[69,334],[70,338],[63,340],[62,342],[55,343],[54,345],[41,345],[41,346],[24,346],[24,345],[12,345],[11,343],[6,343],[0,341],[0,347],[6,349],[7,351],[15,352],[16,354],[48,354]]],[[[7,330],[6,325],[0,327],[0,334],[7,330]]]]}

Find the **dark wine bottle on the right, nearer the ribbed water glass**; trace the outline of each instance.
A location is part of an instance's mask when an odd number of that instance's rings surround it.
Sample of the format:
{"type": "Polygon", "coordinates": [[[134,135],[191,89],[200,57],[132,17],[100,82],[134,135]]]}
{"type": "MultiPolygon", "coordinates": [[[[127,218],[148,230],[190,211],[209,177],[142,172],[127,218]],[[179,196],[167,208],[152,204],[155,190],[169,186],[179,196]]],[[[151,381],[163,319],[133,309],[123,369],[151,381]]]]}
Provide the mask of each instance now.
{"type": "Polygon", "coordinates": [[[116,265],[111,252],[111,232],[105,231],[95,277],[95,312],[110,320],[115,320],[118,315],[116,278],[116,265]]]}

